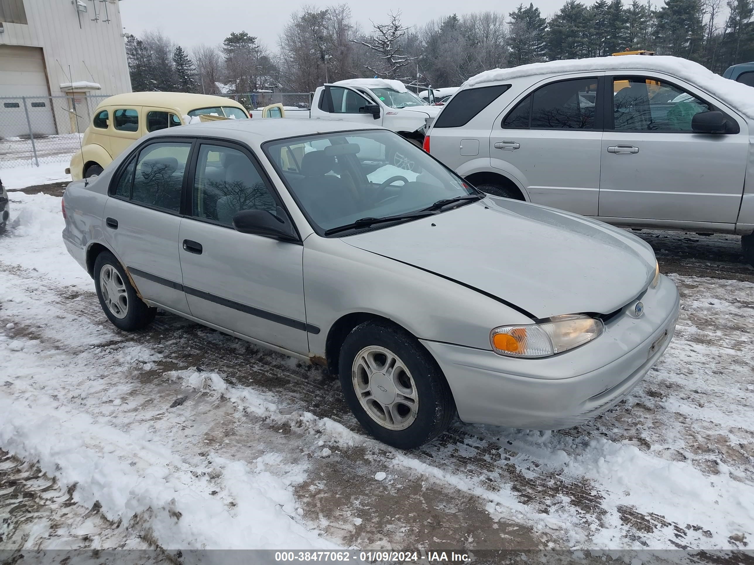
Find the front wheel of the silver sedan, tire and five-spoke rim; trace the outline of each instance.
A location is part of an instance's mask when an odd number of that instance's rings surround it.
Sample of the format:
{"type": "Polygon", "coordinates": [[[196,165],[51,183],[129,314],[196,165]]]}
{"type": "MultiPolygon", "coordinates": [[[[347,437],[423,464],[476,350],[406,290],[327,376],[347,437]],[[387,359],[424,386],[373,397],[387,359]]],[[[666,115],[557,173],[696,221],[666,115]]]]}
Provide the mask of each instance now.
{"type": "Polygon", "coordinates": [[[403,328],[364,322],[345,338],[340,382],[361,426],[385,444],[419,447],[437,438],[455,415],[443,371],[403,328]]]}

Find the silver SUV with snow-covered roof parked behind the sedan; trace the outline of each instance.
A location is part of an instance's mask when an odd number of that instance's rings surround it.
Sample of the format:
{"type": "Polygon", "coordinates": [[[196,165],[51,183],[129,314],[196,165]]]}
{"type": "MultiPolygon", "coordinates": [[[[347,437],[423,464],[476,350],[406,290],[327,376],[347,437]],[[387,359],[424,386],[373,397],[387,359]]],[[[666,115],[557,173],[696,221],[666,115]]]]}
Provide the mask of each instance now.
{"type": "Polygon", "coordinates": [[[752,94],[670,56],[495,69],[444,106],[425,149],[490,194],[627,227],[741,234],[754,261],[752,94]]]}

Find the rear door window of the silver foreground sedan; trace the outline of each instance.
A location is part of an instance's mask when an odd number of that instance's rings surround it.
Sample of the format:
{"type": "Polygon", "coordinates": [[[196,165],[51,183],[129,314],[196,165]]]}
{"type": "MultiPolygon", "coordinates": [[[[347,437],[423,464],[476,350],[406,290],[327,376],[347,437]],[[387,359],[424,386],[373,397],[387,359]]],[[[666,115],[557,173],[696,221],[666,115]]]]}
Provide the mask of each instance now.
{"type": "Polygon", "coordinates": [[[152,143],[143,148],[136,160],[131,200],[179,212],[190,150],[191,144],[182,142],[152,143]]]}

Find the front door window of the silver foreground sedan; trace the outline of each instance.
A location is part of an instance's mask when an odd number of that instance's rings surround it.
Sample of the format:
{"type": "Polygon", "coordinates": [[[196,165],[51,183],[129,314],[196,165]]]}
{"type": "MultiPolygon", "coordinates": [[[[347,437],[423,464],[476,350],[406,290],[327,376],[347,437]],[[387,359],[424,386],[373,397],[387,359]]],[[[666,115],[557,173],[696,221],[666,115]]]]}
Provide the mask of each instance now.
{"type": "Polygon", "coordinates": [[[249,157],[222,145],[201,145],[192,194],[195,217],[227,226],[233,225],[233,216],[241,210],[277,210],[249,157]]]}

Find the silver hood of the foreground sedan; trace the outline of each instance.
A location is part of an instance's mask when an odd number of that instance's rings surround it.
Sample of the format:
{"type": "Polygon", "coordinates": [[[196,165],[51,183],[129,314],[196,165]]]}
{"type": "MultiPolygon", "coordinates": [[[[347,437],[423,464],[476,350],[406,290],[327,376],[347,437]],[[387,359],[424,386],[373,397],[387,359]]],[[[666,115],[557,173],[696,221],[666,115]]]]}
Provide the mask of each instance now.
{"type": "Polygon", "coordinates": [[[537,318],[611,313],[654,276],[654,252],[638,237],[496,197],[342,241],[472,286],[537,318]]]}

